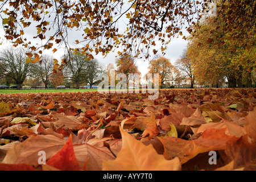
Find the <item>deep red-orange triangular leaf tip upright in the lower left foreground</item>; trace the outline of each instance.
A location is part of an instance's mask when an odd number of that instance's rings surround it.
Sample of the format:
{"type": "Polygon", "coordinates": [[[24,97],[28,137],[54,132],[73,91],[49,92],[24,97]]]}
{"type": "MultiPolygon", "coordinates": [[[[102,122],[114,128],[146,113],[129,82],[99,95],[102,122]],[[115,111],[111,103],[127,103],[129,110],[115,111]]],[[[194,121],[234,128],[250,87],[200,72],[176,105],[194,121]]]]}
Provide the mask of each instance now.
{"type": "Polygon", "coordinates": [[[69,136],[63,148],[47,161],[47,165],[63,171],[79,171],[75,151],[72,144],[72,135],[69,136]]]}

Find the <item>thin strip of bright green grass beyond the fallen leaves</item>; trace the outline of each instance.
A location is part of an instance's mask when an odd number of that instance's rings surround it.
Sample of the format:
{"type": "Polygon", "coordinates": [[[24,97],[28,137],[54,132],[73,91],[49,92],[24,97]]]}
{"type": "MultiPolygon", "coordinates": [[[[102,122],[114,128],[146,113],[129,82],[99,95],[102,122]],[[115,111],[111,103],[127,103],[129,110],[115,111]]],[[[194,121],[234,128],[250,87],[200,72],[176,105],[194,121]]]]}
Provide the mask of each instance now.
{"type": "Polygon", "coordinates": [[[97,89],[31,89],[31,90],[13,90],[13,89],[0,89],[0,94],[9,93],[53,93],[53,92],[95,92],[97,89]]]}

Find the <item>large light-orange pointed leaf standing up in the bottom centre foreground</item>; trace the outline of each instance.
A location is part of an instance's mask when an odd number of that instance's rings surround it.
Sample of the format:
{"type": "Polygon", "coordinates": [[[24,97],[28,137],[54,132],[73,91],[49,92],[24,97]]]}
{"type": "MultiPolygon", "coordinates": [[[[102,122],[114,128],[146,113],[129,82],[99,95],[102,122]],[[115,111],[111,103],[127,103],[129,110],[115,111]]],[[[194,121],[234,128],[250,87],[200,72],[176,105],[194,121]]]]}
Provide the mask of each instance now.
{"type": "Polygon", "coordinates": [[[115,160],[104,160],[103,170],[117,171],[170,171],[180,170],[181,164],[178,158],[172,160],[164,159],[159,155],[152,145],[144,145],[133,138],[129,133],[119,127],[122,135],[122,148],[115,160]]]}

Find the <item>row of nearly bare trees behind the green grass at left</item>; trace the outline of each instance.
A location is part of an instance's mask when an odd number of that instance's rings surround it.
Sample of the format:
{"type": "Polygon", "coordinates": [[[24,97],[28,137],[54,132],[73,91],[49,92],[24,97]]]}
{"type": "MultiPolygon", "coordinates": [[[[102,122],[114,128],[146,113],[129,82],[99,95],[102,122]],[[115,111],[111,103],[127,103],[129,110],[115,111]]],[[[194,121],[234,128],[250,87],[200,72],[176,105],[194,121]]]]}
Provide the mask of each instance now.
{"type": "Polygon", "coordinates": [[[33,60],[27,58],[26,53],[23,48],[13,47],[3,49],[0,53],[0,78],[5,80],[7,85],[15,82],[17,89],[20,89],[25,80],[30,80],[38,84],[37,86],[43,82],[45,88],[56,88],[66,82],[66,85],[74,84],[78,89],[80,84],[96,84],[97,76],[102,72],[102,67],[96,59],[89,60],[79,52],[68,52],[63,55],[67,65],[53,74],[53,56],[43,55],[40,61],[33,63],[33,60]]]}

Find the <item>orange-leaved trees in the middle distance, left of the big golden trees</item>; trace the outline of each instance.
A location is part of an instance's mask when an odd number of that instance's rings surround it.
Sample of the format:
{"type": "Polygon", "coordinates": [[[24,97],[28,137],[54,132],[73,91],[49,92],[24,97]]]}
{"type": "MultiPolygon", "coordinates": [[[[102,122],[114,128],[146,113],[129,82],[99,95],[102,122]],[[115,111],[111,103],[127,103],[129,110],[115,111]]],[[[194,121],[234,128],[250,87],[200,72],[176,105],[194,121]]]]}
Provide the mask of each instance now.
{"type": "MultiPolygon", "coordinates": [[[[178,87],[181,83],[190,82],[191,88],[193,88],[195,83],[195,77],[193,76],[191,61],[188,60],[185,53],[180,59],[176,60],[175,65],[172,65],[170,60],[166,57],[155,56],[155,59],[149,62],[148,73],[150,73],[151,80],[148,80],[147,74],[142,77],[141,72],[139,72],[136,65],[135,57],[126,54],[115,60],[115,65],[110,63],[106,67],[106,73],[109,76],[109,84],[111,71],[114,71],[115,77],[118,73],[124,73],[127,78],[127,87],[129,82],[134,83],[134,77],[129,77],[129,74],[138,74],[140,80],[147,80],[147,82],[154,83],[154,73],[159,74],[159,86],[160,88],[166,88],[173,84],[178,87]]],[[[118,80],[115,80],[117,84],[118,80]]],[[[142,81],[140,82],[142,84],[142,81]]]]}

